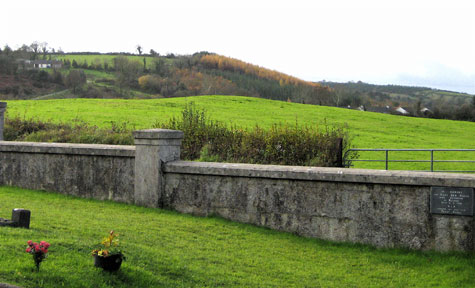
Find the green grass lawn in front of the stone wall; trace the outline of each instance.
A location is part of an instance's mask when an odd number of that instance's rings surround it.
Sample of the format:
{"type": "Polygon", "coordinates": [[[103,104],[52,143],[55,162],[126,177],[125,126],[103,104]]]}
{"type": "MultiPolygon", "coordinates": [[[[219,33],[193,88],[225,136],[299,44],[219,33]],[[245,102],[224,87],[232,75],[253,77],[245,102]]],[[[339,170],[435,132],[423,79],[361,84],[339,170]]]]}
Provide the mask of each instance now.
{"type": "Polygon", "coordinates": [[[474,287],[473,253],[375,249],[298,237],[219,218],[0,187],[0,217],[32,212],[30,229],[0,227],[0,283],[23,287],[474,287]],[[127,260],[116,274],[90,252],[109,230],[127,260]],[[35,272],[28,240],[51,243],[35,272]]]}

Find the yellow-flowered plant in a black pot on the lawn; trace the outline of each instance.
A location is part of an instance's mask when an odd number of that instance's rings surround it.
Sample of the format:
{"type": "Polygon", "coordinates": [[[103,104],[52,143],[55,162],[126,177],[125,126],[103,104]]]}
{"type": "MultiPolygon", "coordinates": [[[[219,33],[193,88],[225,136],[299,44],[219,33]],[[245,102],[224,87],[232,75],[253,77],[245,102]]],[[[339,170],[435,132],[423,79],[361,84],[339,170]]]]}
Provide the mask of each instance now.
{"type": "Polygon", "coordinates": [[[110,231],[109,236],[105,237],[101,244],[101,248],[92,250],[94,266],[109,272],[119,270],[122,260],[125,260],[124,254],[118,248],[119,234],[110,231]]]}

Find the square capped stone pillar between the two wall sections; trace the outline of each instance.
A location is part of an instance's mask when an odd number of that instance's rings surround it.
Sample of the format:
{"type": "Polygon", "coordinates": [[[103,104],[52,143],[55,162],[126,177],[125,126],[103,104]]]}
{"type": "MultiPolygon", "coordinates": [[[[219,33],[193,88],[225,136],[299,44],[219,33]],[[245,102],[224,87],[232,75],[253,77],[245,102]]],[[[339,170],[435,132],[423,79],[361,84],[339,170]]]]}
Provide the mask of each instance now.
{"type": "Polygon", "coordinates": [[[180,160],[183,132],[168,129],[134,131],[135,204],[163,207],[163,163],[180,160]]]}

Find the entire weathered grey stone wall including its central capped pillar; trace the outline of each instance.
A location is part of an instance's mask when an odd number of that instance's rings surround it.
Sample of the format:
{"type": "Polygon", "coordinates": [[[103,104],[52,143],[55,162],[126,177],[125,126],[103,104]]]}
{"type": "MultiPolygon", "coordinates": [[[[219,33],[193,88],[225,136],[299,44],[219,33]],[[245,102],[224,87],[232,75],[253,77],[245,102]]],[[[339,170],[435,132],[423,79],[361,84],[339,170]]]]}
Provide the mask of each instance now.
{"type": "Polygon", "coordinates": [[[183,133],[134,132],[136,146],[0,141],[0,185],[219,215],[307,237],[473,251],[473,216],[430,212],[431,187],[475,175],[180,161],[183,133]]]}

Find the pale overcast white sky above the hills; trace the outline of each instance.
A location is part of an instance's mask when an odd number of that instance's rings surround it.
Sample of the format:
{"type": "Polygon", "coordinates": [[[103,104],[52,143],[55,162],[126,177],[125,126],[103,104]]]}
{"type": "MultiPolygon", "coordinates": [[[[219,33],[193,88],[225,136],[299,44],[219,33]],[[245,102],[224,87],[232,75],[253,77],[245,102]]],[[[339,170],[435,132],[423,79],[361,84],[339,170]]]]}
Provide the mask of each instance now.
{"type": "Polygon", "coordinates": [[[475,1],[2,1],[0,45],[209,51],[309,81],[475,94],[475,1]]]}

